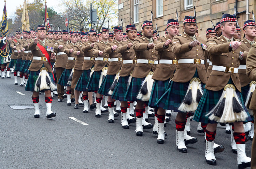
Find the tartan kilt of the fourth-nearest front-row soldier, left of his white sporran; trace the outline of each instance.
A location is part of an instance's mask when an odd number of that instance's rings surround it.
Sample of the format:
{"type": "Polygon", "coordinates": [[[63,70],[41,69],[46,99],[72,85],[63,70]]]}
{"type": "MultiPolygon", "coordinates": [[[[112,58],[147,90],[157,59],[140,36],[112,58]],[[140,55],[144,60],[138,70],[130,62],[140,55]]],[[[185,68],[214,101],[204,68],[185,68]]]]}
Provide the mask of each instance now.
{"type": "Polygon", "coordinates": [[[131,79],[131,83],[130,83],[130,85],[126,91],[126,94],[125,94],[126,100],[129,100],[129,101],[137,101],[138,100],[136,97],[140,91],[142,82],[145,80],[145,78],[146,77],[131,79]]]}

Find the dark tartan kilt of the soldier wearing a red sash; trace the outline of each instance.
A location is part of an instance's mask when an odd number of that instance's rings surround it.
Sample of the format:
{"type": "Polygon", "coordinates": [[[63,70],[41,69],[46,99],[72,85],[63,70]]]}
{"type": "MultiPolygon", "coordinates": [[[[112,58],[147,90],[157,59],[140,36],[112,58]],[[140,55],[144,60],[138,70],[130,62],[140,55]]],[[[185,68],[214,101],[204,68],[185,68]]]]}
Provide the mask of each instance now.
{"type": "MultiPolygon", "coordinates": [[[[44,67],[44,65],[42,67],[44,67]]],[[[28,82],[27,82],[27,85],[25,87],[26,91],[34,91],[35,82],[37,81],[39,73],[40,73],[40,69],[36,72],[30,71],[30,74],[29,74],[29,77],[28,77],[28,82]]],[[[54,82],[53,73],[48,72],[48,74],[51,78],[51,81],[54,82]]],[[[44,90],[42,90],[42,91],[44,91],[44,90]]],[[[42,92],[42,91],[40,91],[40,92],[42,92]]]]}

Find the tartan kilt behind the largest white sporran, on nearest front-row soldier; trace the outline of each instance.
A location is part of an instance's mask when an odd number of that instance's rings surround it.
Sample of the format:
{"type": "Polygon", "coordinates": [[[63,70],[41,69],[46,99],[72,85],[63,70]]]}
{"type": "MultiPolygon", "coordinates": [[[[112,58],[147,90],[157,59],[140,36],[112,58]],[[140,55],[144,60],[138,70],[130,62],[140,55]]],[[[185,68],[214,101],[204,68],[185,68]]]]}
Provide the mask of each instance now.
{"type": "MultiPolygon", "coordinates": [[[[232,81],[229,80],[228,83],[230,83],[230,82],[231,82],[231,84],[233,84],[232,81]]],[[[197,109],[196,109],[196,112],[194,115],[195,121],[202,122],[202,123],[217,123],[214,120],[209,120],[208,117],[205,115],[207,115],[211,111],[211,109],[218,103],[219,99],[221,98],[223,90],[224,89],[218,90],[218,91],[213,91],[213,90],[204,89],[204,94],[197,106],[197,109]]],[[[236,94],[237,94],[240,102],[243,103],[243,98],[242,98],[241,92],[239,92],[236,89],[236,94]]],[[[246,107],[244,106],[244,104],[242,104],[242,105],[248,115],[248,118],[245,120],[245,122],[252,121],[252,118],[251,118],[249,112],[247,111],[246,107]]]]}

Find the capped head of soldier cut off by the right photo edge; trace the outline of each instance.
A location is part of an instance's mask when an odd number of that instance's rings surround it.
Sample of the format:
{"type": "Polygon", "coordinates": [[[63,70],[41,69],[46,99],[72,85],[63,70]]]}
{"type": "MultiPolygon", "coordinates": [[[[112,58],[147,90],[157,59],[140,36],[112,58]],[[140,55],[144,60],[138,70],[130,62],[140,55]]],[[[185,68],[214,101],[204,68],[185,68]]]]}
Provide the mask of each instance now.
{"type": "MultiPolygon", "coordinates": [[[[244,22],[243,31],[245,38],[251,40],[256,37],[256,24],[254,20],[247,20],[244,22]]],[[[251,41],[253,41],[251,40],[251,41]]]]}

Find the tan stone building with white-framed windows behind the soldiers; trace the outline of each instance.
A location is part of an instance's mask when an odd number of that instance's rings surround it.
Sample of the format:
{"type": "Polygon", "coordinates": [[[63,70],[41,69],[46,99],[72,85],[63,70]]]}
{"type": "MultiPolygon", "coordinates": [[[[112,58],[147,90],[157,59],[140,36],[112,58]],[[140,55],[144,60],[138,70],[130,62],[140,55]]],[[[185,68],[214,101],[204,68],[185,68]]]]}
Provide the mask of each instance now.
{"type": "Polygon", "coordinates": [[[141,24],[144,20],[151,20],[151,11],[153,12],[154,29],[159,30],[160,36],[164,35],[164,30],[168,19],[176,18],[176,10],[179,13],[180,33],[185,15],[194,16],[196,7],[197,26],[199,36],[205,38],[207,28],[212,28],[216,22],[221,20],[222,12],[234,14],[234,5],[237,6],[238,23],[242,28],[244,21],[252,19],[252,11],[256,13],[256,0],[119,0],[119,24],[123,19],[123,26],[131,24],[130,17],[133,18],[137,30],[141,30],[141,24]]]}

